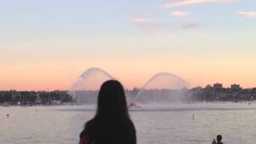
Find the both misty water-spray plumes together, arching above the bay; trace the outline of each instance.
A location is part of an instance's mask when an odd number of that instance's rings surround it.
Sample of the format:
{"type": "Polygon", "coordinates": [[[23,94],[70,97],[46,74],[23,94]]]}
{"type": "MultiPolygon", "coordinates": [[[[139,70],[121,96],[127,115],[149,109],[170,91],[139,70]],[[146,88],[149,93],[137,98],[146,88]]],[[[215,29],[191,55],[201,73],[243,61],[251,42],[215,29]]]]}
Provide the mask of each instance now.
{"type": "MultiPolygon", "coordinates": [[[[95,105],[100,86],[110,79],[114,77],[105,70],[90,68],[74,82],[70,94],[77,104],[95,105]]],[[[188,82],[174,74],[158,73],[150,78],[141,89],[126,90],[126,99],[128,104],[138,103],[139,105],[185,102],[184,96],[189,86],[188,82]]]]}

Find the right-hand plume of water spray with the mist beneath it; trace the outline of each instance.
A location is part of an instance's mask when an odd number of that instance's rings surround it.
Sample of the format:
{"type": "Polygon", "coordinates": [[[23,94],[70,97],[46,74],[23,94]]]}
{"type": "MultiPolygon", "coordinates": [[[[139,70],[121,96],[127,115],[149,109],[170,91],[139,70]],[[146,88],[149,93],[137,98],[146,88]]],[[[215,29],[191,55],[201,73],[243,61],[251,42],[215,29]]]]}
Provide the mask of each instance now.
{"type": "Polygon", "coordinates": [[[141,104],[184,102],[186,88],[189,86],[188,82],[174,74],[158,73],[139,90],[134,102],[141,104]]]}

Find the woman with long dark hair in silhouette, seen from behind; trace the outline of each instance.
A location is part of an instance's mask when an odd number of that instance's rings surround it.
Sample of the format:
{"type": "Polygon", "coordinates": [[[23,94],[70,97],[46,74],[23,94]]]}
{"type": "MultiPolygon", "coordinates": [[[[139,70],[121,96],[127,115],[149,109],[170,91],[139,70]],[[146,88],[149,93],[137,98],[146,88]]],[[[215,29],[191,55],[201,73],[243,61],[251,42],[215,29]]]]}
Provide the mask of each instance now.
{"type": "Polygon", "coordinates": [[[86,122],[80,144],[136,144],[134,123],[120,82],[109,80],[102,84],[96,115],[86,122]]]}

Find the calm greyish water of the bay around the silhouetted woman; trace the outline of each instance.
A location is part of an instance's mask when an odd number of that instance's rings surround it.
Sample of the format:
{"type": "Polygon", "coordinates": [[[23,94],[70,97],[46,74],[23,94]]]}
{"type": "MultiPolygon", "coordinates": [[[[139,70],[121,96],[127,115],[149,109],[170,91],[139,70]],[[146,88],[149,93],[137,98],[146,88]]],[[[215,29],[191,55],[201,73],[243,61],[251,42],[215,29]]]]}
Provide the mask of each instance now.
{"type": "MultiPolygon", "coordinates": [[[[156,107],[130,111],[139,144],[206,144],[217,134],[225,143],[256,143],[256,103],[156,107]]],[[[93,116],[88,106],[0,107],[0,143],[78,143],[84,122],[93,116]]]]}

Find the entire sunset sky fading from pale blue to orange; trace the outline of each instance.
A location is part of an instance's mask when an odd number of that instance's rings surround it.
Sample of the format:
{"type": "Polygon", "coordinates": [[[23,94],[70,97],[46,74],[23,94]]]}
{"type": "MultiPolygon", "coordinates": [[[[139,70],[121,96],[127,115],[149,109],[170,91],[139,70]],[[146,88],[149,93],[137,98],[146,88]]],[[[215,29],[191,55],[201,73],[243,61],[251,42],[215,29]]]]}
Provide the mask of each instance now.
{"type": "Polygon", "coordinates": [[[90,67],[141,87],[256,86],[255,0],[0,0],[0,90],[66,90],[90,67]]]}

